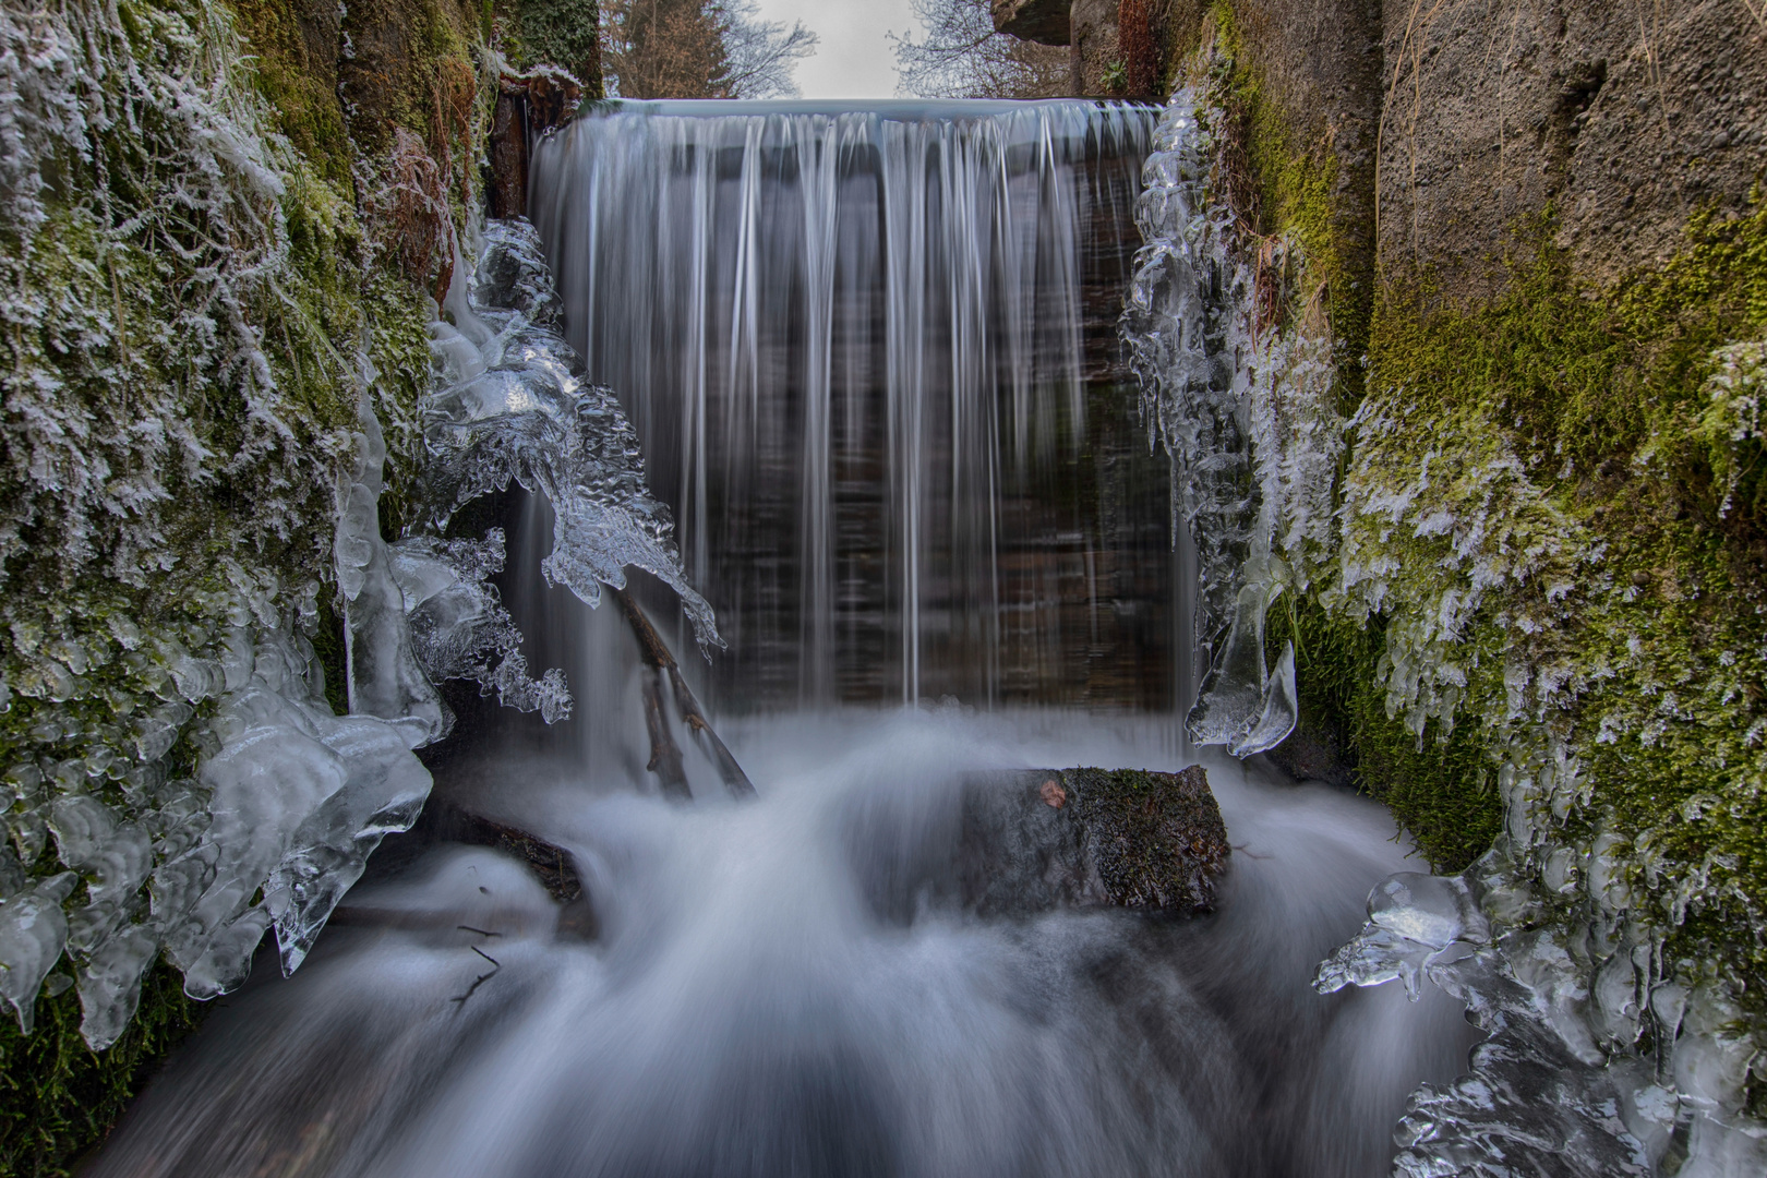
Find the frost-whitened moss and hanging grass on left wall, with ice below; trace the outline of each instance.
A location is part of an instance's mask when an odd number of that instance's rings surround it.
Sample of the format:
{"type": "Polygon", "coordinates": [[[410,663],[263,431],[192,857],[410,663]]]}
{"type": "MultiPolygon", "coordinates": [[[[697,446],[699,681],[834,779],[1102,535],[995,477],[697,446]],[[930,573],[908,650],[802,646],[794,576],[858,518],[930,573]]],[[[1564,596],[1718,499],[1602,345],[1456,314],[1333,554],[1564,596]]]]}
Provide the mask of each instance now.
{"type": "Polygon", "coordinates": [[[269,125],[217,9],[0,9],[0,991],[28,1030],[78,985],[94,1047],[163,950],[214,993],[329,908],[288,855],[352,851],[306,800],[385,821],[428,786],[316,726],[360,321],[313,260],[355,224],[269,125]],[[265,724],[302,733],[299,800],[240,763],[265,724]]]}

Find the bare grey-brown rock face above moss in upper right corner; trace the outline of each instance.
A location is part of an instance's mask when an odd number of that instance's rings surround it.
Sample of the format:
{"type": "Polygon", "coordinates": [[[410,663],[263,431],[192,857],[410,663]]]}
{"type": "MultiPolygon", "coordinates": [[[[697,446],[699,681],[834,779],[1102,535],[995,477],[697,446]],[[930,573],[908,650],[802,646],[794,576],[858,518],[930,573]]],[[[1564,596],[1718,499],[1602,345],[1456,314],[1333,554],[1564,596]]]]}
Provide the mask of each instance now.
{"type": "MultiPolygon", "coordinates": [[[[1755,5],[1758,7],[1758,5],[1755,5]]],[[[1382,263],[1493,283],[1553,205],[1573,267],[1665,260],[1687,215],[1744,208],[1767,152],[1767,25],[1742,4],[1385,5],[1382,263]]]]}

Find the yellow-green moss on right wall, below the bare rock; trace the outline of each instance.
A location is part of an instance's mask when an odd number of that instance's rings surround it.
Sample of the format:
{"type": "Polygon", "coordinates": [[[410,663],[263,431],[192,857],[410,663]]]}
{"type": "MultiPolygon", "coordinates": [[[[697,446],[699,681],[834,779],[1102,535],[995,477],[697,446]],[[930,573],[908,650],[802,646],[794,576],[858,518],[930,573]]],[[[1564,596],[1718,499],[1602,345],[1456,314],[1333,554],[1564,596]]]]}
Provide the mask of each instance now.
{"type": "MultiPolygon", "coordinates": [[[[1520,643],[1509,662],[1534,675],[1523,712],[1500,683],[1472,683],[1463,724],[1511,733],[1491,744],[1493,766],[1527,726],[1557,733],[1580,777],[1536,821],[1553,842],[1619,839],[1636,913],[1668,938],[1670,959],[1716,963],[1756,1017],[1767,1014],[1762,436],[1748,364],[1726,396],[1710,381],[1726,344],[1763,336],[1767,208],[1698,215],[1672,261],[1604,290],[1578,284],[1546,219],[1518,226],[1507,290],[1488,304],[1458,306],[1428,276],[1389,283],[1369,392],[1403,404],[1408,434],[1428,438],[1415,450],[1497,440],[1527,472],[1497,505],[1534,496],[1530,510],[1550,512],[1564,544],[1589,556],[1574,574],[1548,560],[1484,599],[1474,629],[1516,616],[1543,629],[1504,631],[1520,643]]],[[[1389,547],[1422,562],[1419,585],[1454,588],[1412,537],[1389,547]]],[[[1424,600],[1417,590],[1410,604],[1424,600]]],[[[1398,777],[1431,795],[1408,819],[1419,841],[1452,835],[1452,781],[1403,765],[1398,777]]]]}

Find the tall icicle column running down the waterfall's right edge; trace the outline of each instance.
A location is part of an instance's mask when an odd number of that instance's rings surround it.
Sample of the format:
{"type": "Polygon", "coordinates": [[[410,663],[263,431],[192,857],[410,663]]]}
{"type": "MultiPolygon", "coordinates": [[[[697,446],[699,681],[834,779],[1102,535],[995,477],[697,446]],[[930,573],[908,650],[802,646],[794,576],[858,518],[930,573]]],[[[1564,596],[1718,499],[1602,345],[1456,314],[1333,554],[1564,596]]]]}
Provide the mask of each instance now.
{"type": "MultiPolygon", "coordinates": [[[[1136,205],[1124,339],[1141,415],[1172,457],[1173,530],[1198,549],[1198,645],[1209,673],[1189,731],[1249,756],[1295,726],[1293,648],[1272,673],[1263,620],[1306,588],[1332,542],[1332,479],[1343,420],[1331,341],[1258,311],[1260,256],[1210,191],[1216,155],[1194,99],[1173,97],[1154,136],[1136,205]]],[[[1258,247],[1281,268],[1286,242],[1258,247]]]]}

